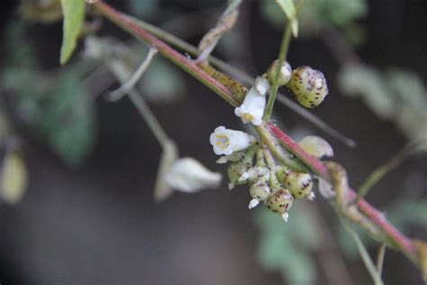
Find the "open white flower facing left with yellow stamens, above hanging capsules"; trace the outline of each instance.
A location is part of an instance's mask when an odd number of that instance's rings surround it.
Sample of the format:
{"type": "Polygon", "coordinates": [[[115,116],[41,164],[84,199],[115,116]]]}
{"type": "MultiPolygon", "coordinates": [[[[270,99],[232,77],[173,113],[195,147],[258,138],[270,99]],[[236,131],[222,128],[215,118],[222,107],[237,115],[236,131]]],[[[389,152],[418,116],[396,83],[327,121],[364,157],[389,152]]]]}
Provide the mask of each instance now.
{"type": "Polygon", "coordinates": [[[213,145],[213,152],[217,155],[230,155],[232,152],[238,152],[246,149],[255,138],[248,133],[226,129],[219,126],[215,129],[209,138],[213,145]]]}

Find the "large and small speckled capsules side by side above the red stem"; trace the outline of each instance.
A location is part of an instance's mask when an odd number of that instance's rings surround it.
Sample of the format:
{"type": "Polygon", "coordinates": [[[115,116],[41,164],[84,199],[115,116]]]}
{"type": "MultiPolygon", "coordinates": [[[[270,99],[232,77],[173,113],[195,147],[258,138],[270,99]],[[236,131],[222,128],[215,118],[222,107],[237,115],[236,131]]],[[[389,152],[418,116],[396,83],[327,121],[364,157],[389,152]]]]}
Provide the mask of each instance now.
{"type": "MultiPolygon", "coordinates": [[[[268,81],[276,78],[278,60],[273,61],[267,71],[268,81]]],[[[280,68],[278,86],[286,86],[299,104],[306,108],[319,106],[328,95],[328,86],[323,73],[308,66],[292,70],[285,61],[280,68]]]]}

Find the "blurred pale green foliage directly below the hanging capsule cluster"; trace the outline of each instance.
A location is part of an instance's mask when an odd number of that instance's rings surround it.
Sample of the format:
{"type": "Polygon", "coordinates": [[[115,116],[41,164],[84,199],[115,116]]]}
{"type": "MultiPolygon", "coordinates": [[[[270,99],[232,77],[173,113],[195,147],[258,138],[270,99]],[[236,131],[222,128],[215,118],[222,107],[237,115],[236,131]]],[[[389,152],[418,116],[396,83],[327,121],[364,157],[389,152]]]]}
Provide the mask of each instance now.
{"type": "Polygon", "coordinates": [[[259,262],[269,271],[280,271],[288,284],[314,284],[317,272],[313,251],[320,246],[321,231],[304,212],[304,205],[294,205],[289,215],[284,223],[264,208],[256,210],[259,262]]]}

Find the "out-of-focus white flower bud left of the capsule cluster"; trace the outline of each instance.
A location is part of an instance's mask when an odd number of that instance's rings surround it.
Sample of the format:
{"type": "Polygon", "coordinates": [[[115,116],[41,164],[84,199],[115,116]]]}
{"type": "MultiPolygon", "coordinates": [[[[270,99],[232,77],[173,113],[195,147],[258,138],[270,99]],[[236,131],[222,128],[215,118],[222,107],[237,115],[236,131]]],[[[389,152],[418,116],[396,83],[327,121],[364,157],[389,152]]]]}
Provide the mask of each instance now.
{"type": "Polygon", "coordinates": [[[171,188],[186,193],[216,188],[221,179],[221,173],[208,170],[202,163],[189,157],[175,161],[165,175],[165,180],[171,188]]]}

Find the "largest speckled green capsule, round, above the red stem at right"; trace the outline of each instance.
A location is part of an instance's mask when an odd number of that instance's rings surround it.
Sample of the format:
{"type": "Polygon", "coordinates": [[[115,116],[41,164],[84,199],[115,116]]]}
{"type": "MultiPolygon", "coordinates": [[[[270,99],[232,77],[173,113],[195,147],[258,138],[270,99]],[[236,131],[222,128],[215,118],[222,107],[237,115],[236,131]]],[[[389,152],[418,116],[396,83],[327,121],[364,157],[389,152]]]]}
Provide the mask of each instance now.
{"type": "Polygon", "coordinates": [[[296,101],[307,108],[319,106],[329,92],[323,73],[307,66],[295,69],[286,86],[296,101]]]}

